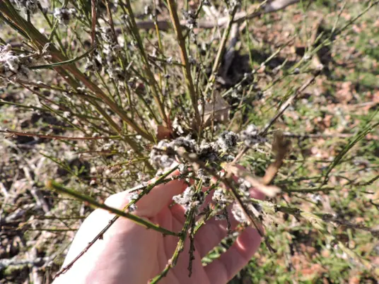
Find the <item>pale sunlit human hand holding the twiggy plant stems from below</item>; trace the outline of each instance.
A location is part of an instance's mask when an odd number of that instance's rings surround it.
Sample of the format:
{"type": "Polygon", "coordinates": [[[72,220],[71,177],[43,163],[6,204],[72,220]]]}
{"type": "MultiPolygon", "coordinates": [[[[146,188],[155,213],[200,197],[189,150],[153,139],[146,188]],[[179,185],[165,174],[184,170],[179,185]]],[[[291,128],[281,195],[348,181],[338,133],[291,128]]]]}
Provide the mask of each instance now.
{"type": "MultiPolygon", "coordinates": [[[[179,172],[173,172],[177,175],[179,172]]],[[[167,184],[154,187],[139,200],[134,214],[150,220],[173,232],[180,232],[185,222],[185,210],[180,205],[169,206],[173,196],[181,194],[187,184],[175,179],[167,184]]],[[[250,190],[252,197],[262,199],[263,195],[250,190]]],[[[207,199],[209,200],[209,199],[207,199]]],[[[105,203],[114,208],[123,208],[129,203],[129,194],[120,192],[110,196],[105,203]]],[[[84,220],[71,244],[63,267],[69,264],[91,242],[113,218],[113,214],[97,209],[84,220]]],[[[232,214],[232,229],[238,225],[232,214]]],[[[202,257],[213,249],[227,235],[227,223],[209,220],[194,238],[194,261],[192,276],[189,278],[189,242],[180,254],[176,266],[160,283],[227,283],[252,258],[260,246],[261,237],[257,230],[248,227],[235,241],[231,249],[207,266],[202,266],[202,257]]],[[[178,237],[163,236],[160,232],[147,230],[126,218],[118,220],[105,232],[88,252],[62,274],[54,284],[61,283],[106,283],[146,284],[161,273],[173,256],[178,237]]]]}

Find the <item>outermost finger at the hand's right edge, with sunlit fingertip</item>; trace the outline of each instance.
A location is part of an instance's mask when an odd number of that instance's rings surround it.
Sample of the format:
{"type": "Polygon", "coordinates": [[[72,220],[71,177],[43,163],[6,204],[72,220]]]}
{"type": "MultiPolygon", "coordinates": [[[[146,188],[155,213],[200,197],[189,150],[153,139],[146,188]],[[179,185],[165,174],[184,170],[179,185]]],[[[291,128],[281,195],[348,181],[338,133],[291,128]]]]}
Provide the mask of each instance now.
{"type": "Polygon", "coordinates": [[[226,283],[231,280],[257,252],[260,242],[257,230],[248,227],[226,253],[204,268],[210,282],[226,283]]]}

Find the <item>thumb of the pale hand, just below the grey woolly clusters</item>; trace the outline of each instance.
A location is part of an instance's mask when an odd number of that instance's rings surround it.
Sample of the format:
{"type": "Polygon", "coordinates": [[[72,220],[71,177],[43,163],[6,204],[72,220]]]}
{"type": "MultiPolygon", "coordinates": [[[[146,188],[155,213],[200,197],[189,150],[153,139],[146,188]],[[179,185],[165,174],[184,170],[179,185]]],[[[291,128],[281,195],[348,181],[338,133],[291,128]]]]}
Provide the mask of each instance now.
{"type": "MultiPolygon", "coordinates": [[[[175,170],[169,177],[175,177],[180,172],[175,170]]],[[[154,181],[154,179],[153,179],[154,181]]],[[[158,184],[151,191],[136,202],[136,215],[151,218],[158,214],[165,206],[172,202],[173,196],[181,194],[187,185],[182,179],[174,179],[167,184],[158,184]]],[[[122,191],[110,196],[105,203],[115,208],[124,208],[130,202],[130,193],[122,191]]]]}

